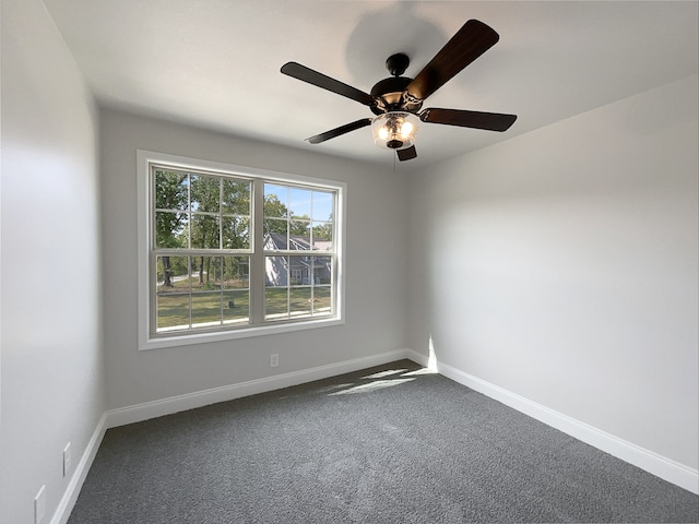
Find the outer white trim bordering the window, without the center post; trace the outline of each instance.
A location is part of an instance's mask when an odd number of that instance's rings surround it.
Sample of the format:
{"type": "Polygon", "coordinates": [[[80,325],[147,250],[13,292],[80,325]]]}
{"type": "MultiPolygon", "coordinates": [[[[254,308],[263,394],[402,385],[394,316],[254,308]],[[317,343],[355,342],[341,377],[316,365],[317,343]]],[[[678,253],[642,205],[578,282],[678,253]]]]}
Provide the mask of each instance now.
{"type": "MultiPolygon", "coordinates": [[[[251,336],[272,335],[279,333],[287,333],[294,331],[304,331],[310,329],[328,327],[331,325],[341,325],[345,323],[345,277],[344,277],[344,252],[345,252],[345,235],[344,227],[346,224],[346,192],[347,184],[334,180],[323,180],[315,177],[300,175],[292,175],[281,171],[271,171],[266,169],[258,169],[246,166],[236,166],[218,162],[202,160],[199,158],[189,158],[185,156],[171,155],[167,153],[157,153],[153,151],[137,150],[137,182],[138,182],[138,258],[139,258],[139,275],[138,275],[138,299],[139,299],[139,350],[158,349],[164,347],[175,347],[185,345],[203,344],[211,342],[222,342],[236,338],[247,338],[251,336]],[[337,264],[336,271],[336,293],[337,300],[335,303],[336,314],[332,318],[308,319],[289,323],[274,323],[266,325],[254,325],[241,327],[230,331],[208,332],[208,333],[188,333],[182,335],[174,335],[167,337],[151,336],[151,314],[150,314],[150,289],[151,276],[149,270],[150,259],[150,238],[151,230],[151,183],[150,183],[150,165],[151,164],[168,164],[181,169],[208,169],[229,175],[238,175],[242,177],[264,178],[265,180],[279,181],[282,183],[308,183],[320,188],[328,188],[337,191],[337,215],[335,251],[336,258],[342,263],[337,264]]],[[[252,285],[252,284],[251,284],[252,285]]]]}

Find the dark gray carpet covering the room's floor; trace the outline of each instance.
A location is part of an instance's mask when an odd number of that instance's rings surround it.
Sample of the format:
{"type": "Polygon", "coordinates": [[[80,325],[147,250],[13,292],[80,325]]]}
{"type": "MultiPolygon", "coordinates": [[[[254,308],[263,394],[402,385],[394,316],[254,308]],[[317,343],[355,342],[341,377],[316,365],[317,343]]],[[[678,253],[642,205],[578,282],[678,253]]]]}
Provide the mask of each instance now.
{"type": "Polygon", "coordinates": [[[417,370],[110,429],[69,524],[699,520],[689,491],[417,370]]]}

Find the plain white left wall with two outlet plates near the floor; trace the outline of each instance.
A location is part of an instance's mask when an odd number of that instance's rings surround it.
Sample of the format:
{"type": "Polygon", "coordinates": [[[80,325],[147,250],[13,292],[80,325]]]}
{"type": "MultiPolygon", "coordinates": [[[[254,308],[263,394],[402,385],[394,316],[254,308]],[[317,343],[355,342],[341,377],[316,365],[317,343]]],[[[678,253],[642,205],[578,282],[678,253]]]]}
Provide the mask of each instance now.
{"type": "Polygon", "coordinates": [[[48,523],[105,410],[97,114],[44,4],[2,1],[0,522],[48,523]]]}

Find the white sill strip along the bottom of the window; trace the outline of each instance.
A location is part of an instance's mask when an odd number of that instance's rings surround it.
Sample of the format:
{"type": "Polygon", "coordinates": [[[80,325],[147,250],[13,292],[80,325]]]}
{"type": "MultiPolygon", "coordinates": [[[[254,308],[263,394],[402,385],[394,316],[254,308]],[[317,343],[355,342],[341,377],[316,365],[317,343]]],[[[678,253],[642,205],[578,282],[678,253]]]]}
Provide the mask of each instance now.
{"type": "Polygon", "coordinates": [[[344,324],[344,319],[331,318],[309,320],[305,322],[293,322],[284,324],[265,324],[253,327],[242,327],[215,333],[191,333],[180,336],[167,336],[163,338],[145,338],[139,341],[139,350],[161,349],[176,346],[193,346],[197,344],[209,344],[214,342],[233,341],[237,338],[249,338],[252,336],[276,335],[294,331],[317,330],[344,324]]]}

